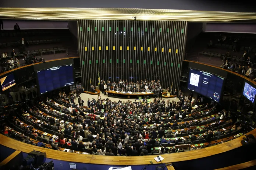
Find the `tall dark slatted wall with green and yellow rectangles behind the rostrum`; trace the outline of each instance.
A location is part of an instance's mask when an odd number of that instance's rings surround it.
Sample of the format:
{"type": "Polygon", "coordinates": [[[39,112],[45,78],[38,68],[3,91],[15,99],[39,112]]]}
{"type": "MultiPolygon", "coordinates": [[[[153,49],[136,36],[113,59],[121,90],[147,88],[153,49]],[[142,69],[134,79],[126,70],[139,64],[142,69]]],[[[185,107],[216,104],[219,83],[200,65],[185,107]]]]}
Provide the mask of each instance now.
{"type": "Polygon", "coordinates": [[[78,28],[86,89],[90,78],[97,85],[98,71],[105,81],[159,79],[164,88],[179,87],[185,21],[79,20],[78,28]]]}

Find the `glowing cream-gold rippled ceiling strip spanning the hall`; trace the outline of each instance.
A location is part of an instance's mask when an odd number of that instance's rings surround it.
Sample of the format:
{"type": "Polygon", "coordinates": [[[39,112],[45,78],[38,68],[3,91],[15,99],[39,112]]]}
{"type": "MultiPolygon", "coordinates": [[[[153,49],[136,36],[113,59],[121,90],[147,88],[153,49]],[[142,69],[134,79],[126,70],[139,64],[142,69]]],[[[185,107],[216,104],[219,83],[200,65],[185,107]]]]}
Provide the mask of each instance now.
{"type": "Polygon", "coordinates": [[[221,12],[190,10],[156,10],[139,8],[0,8],[0,18],[6,19],[113,19],[162,20],[191,22],[256,21],[253,12],[221,12]]]}

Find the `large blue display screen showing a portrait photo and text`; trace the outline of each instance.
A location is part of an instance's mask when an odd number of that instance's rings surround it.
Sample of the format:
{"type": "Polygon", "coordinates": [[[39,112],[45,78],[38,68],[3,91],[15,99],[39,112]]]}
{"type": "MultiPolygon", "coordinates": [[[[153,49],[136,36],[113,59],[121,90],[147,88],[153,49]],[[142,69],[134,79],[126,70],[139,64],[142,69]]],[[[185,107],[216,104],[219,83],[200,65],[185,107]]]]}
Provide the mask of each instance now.
{"type": "Polygon", "coordinates": [[[188,89],[219,102],[224,78],[189,68],[188,89]]]}

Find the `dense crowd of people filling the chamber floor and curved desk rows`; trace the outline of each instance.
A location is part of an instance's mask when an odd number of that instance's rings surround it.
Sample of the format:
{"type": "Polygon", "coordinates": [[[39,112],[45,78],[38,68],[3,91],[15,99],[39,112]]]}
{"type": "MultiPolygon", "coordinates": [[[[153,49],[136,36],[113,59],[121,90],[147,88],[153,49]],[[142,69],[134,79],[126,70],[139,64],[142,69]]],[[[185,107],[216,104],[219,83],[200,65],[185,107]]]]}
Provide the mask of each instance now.
{"type": "MultiPolygon", "coordinates": [[[[84,108],[80,103],[76,104],[74,102],[74,95],[78,96],[78,99],[81,98],[75,91],[70,93],[60,92],[58,100],[65,102],[65,104],[58,104],[56,101],[47,98],[46,103],[40,101],[38,106],[27,106],[21,111],[21,114],[24,114],[27,109],[32,115],[41,117],[45,121],[39,123],[36,118],[25,116],[26,121],[32,123],[31,127],[22,127],[18,123],[17,117],[13,118],[13,123],[25,132],[32,133],[35,136],[40,136],[40,134],[32,131],[33,127],[40,126],[53,130],[55,136],[50,137],[49,143],[56,150],[58,147],[65,148],[65,145],[71,145],[75,151],[89,152],[96,155],[121,156],[154,154],[158,153],[155,144],[161,147],[162,144],[177,145],[188,141],[193,143],[195,140],[202,139],[208,142],[214,136],[220,137],[222,134],[230,134],[236,130],[242,131],[245,129],[245,125],[238,122],[226,131],[216,130],[215,127],[235,122],[234,115],[229,111],[222,110],[213,117],[206,117],[217,112],[215,103],[200,103],[200,99],[195,101],[191,96],[183,97],[184,94],[179,93],[179,101],[177,102],[155,98],[150,103],[147,102],[147,99],[111,101],[110,99],[102,99],[99,95],[97,99],[88,99],[88,108],[84,108]],[[65,99],[68,99],[68,101],[65,99]],[[193,103],[191,103],[192,99],[193,103]],[[200,106],[195,110],[200,109],[201,111],[188,116],[192,111],[192,105],[200,106]],[[54,111],[51,107],[60,111],[54,111]],[[43,115],[39,108],[42,108],[46,114],[52,115],[52,117],[49,118],[43,115]],[[90,112],[90,114],[85,114],[86,112],[90,112]],[[54,116],[61,117],[61,119],[54,119],[54,116]],[[196,117],[203,118],[186,122],[181,126],[198,126],[200,123],[208,121],[213,123],[196,129],[184,130],[184,127],[178,129],[177,127],[180,125],[177,122],[188,117],[193,119],[196,117]],[[152,125],[150,126],[150,124],[152,125]],[[173,133],[173,129],[176,128],[178,130],[173,133]],[[202,136],[195,135],[195,133],[203,130],[205,133],[202,136]],[[191,135],[181,138],[179,134],[184,133],[191,135]],[[170,135],[177,138],[167,138],[170,135]],[[89,145],[83,143],[85,138],[89,145]]],[[[39,142],[40,144],[36,145],[45,146],[42,141],[39,142]]],[[[31,141],[31,144],[35,143],[31,141]]],[[[160,154],[182,151],[184,150],[161,147],[160,154]]]]}

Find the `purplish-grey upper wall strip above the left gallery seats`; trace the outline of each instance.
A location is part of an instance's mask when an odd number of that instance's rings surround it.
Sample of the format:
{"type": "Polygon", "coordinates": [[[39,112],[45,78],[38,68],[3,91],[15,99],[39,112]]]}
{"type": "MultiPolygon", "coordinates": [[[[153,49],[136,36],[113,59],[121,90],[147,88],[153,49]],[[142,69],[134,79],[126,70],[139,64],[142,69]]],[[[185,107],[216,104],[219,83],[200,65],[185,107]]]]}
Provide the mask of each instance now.
{"type": "Polygon", "coordinates": [[[68,29],[67,21],[44,21],[44,20],[15,20],[4,19],[4,29],[13,30],[15,23],[20,29],[68,29]]]}

